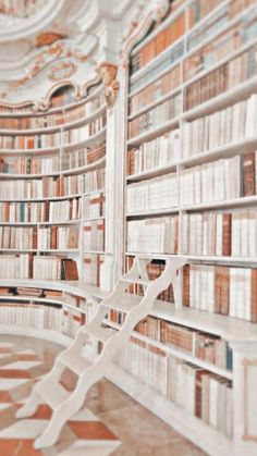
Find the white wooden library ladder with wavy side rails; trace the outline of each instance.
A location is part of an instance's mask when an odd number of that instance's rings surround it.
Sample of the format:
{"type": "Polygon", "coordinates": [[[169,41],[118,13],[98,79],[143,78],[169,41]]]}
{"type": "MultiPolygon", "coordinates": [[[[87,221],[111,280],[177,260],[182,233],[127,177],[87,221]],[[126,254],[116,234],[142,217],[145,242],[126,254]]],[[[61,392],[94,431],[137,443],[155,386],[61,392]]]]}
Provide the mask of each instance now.
{"type": "Polygon", "coordinates": [[[47,403],[53,410],[46,430],[35,441],[35,448],[48,447],[57,442],[62,427],[83,406],[90,386],[105,375],[113,356],[128,342],[135,325],[150,313],[157,296],[172,283],[175,304],[181,300],[178,272],[185,264],[185,258],[179,256],[167,258],[162,274],[150,281],[146,266],[152,259],[154,256],[152,258],[144,256],[135,258],[128,273],[118,280],[113,292],[102,299],[95,317],[78,330],[76,340],[71,347],[57,357],[52,370],[34,386],[25,405],[17,410],[17,418],[34,415],[41,403],[47,403]],[[138,297],[125,293],[132,283],[143,285],[144,296],[138,297]],[[126,315],[125,322],[119,330],[107,328],[105,318],[110,309],[126,315]],[[94,363],[89,362],[82,354],[84,345],[90,343],[90,337],[103,344],[101,354],[94,363]],[[65,368],[78,375],[72,393],[59,383],[65,368]]]}

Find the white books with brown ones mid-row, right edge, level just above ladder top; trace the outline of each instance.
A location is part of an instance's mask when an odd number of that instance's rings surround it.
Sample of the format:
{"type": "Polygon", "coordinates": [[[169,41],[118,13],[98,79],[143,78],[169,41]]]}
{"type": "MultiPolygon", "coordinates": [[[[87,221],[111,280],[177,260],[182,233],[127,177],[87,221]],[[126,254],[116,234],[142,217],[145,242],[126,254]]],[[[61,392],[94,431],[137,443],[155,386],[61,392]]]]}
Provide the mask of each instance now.
{"type": "Polygon", "coordinates": [[[182,215],[181,252],[199,256],[257,256],[257,212],[187,213],[182,215]]]}

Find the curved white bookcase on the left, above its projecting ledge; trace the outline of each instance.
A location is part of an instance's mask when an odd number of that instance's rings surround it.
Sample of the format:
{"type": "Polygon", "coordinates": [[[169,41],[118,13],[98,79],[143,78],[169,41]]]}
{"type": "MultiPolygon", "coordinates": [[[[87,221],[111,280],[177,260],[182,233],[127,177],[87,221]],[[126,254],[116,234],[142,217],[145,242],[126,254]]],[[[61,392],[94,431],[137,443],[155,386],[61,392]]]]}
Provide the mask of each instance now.
{"type": "MultiPolygon", "coordinates": [[[[39,268],[48,268],[46,279],[52,274],[60,280],[60,262],[69,257],[81,280],[93,280],[94,274],[84,273],[83,230],[96,221],[84,220],[83,212],[98,188],[105,199],[106,121],[101,84],[77,102],[73,90],[64,87],[53,94],[45,112],[0,107],[1,278],[4,268],[11,268],[11,255],[19,263],[16,278],[33,278],[37,261],[39,268]]],[[[105,233],[102,239],[94,249],[101,254],[101,262],[105,233]]],[[[94,283],[99,286],[100,263],[95,260],[94,283]]]]}

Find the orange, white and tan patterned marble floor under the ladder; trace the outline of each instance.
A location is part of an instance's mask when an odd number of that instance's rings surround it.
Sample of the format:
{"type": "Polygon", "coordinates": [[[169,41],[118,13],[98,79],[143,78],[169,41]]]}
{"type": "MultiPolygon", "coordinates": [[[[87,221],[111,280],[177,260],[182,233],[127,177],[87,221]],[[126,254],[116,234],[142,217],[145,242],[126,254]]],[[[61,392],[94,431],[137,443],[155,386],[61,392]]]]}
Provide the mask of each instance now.
{"type": "MultiPolygon", "coordinates": [[[[63,428],[51,448],[36,451],[34,440],[51,416],[40,405],[29,419],[15,419],[35,381],[52,366],[63,348],[49,341],[0,336],[0,456],[205,456],[112,383],[102,379],[94,385],[83,409],[63,428]]],[[[65,371],[62,383],[74,387],[65,371]]]]}

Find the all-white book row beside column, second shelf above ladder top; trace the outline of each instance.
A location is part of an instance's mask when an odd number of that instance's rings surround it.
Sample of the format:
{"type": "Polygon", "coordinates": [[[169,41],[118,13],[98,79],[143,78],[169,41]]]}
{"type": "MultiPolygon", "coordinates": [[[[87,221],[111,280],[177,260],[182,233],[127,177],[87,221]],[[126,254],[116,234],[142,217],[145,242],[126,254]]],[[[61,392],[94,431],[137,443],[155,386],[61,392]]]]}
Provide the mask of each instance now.
{"type": "Polygon", "coordinates": [[[166,174],[127,186],[127,213],[168,209],[178,205],[175,174],[166,174]]]}

